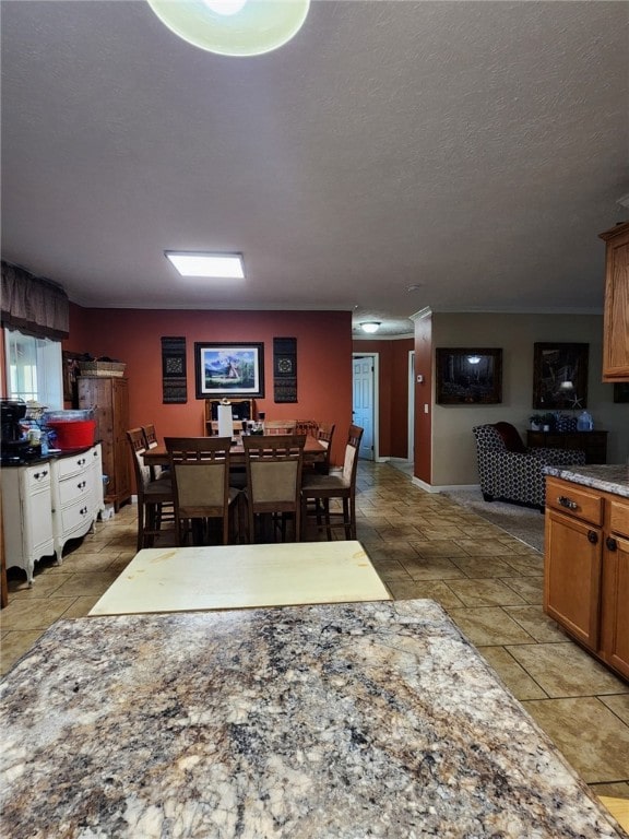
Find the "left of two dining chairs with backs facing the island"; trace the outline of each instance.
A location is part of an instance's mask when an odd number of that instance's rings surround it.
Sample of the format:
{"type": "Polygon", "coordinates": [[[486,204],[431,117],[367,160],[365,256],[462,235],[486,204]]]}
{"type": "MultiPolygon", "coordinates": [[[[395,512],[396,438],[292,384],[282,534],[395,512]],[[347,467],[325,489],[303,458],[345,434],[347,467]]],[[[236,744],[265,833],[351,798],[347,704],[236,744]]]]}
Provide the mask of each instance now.
{"type": "Polygon", "coordinates": [[[209,544],[211,521],[222,522],[224,545],[234,532],[239,489],[229,486],[229,437],[166,437],[170,461],[177,544],[189,536],[193,544],[209,544]]]}

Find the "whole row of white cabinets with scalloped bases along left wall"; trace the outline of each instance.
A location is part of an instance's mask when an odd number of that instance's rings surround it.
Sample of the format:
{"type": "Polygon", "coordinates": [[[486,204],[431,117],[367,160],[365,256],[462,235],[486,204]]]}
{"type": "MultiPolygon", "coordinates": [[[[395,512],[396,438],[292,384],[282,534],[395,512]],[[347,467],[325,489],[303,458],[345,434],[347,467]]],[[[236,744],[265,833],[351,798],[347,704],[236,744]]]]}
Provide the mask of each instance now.
{"type": "Polygon", "coordinates": [[[47,462],[2,470],[2,524],[7,568],[26,571],[55,555],[62,563],[69,539],[85,535],[105,509],[100,445],[47,462]]]}

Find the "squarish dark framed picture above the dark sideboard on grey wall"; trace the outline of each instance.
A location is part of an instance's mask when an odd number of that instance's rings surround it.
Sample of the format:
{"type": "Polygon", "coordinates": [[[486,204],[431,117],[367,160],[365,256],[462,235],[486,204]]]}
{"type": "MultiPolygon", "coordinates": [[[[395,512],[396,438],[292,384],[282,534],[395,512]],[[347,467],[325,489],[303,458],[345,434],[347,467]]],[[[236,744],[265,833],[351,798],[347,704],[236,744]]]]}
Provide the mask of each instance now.
{"type": "Polygon", "coordinates": [[[533,348],[533,407],[538,411],[588,407],[590,344],[539,342],[533,348]]]}

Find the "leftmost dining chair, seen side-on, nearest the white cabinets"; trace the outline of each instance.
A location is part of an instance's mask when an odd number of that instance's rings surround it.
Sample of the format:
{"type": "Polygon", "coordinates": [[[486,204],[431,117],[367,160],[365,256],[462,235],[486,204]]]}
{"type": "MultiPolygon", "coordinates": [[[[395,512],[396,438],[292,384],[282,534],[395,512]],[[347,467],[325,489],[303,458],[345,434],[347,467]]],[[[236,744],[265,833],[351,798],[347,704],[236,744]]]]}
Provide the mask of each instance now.
{"type": "Polygon", "coordinates": [[[151,468],[143,459],[146,441],[142,428],[130,428],[127,440],[138,494],[138,551],[142,551],[153,547],[155,536],[162,533],[162,524],[174,520],[173,484],[169,478],[152,480],[151,468]]]}

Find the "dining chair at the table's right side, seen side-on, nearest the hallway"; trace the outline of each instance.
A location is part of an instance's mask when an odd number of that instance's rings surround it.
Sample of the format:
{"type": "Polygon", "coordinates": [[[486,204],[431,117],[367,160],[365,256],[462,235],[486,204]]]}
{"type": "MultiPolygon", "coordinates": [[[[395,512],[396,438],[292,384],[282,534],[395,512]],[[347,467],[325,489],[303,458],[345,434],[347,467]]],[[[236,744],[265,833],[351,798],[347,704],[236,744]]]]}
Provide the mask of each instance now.
{"type": "Polygon", "coordinates": [[[345,458],[341,471],[332,470],[328,475],[308,473],[301,481],[301,515],[304,524],[312,507],[317,528],[325,528],[328,540],[332,539],[332,529],[343,528],[345,539],[356,539],[356,473],[358,470],[358,450],[364,429],[351,425],[345,445],[345,458]],[[332,509],[330,501],[337,501],[340,510],[332,509]]]}

